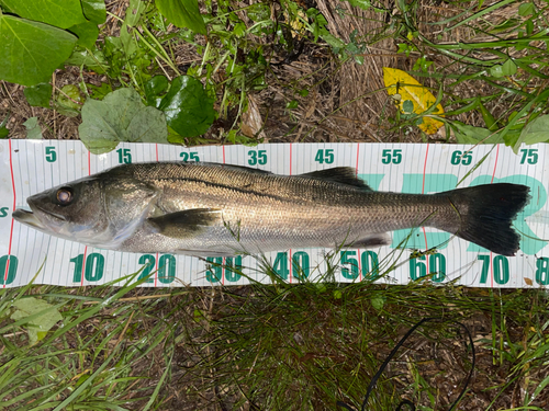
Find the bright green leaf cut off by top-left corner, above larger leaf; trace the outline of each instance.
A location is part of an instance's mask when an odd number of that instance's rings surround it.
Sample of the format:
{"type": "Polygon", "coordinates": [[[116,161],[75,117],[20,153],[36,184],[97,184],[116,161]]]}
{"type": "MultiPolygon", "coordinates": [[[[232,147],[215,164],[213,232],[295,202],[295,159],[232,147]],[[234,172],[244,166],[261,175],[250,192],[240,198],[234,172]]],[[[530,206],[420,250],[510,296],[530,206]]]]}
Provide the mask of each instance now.
{"type": "Polygon", "coordinates": [[[86,22],[80,0],[0,0],[0,5],[8,7],[23,19],[68,28],[86,22]]]}

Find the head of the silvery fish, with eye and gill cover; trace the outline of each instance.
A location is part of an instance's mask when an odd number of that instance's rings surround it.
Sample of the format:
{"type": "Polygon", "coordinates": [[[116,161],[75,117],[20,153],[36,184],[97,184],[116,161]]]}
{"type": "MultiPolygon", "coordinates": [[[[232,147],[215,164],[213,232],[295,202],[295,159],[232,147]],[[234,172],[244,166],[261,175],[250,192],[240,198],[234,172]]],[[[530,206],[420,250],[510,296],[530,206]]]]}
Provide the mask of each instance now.
{"type": "Polygon", "coordinates": [[[155,196],[147,184],[103,173],[32,195],[31,212],[12,216],[52,236],[115,249],[143,222],[155,196]]]}

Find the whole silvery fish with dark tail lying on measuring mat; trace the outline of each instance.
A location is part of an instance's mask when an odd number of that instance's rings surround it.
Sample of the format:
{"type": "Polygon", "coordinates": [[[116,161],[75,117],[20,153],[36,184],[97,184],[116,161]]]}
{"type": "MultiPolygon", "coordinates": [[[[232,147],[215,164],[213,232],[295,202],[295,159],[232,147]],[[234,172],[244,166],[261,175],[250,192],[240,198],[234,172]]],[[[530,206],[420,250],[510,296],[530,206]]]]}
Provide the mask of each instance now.
{"type": "MultiPolygon", "coordinates": [[[[529,187],[496,183],[435,194],[377,192],[352,168],[279,175],[200,162],[131,163],[27,199],[13,218],[47,235],[134,253],[198,256],[295,248],[377,248],[434,227],[515,255],[513,219],[529,187]]],[[[405,247],[405,244],[403,244],[405,247]]]]}

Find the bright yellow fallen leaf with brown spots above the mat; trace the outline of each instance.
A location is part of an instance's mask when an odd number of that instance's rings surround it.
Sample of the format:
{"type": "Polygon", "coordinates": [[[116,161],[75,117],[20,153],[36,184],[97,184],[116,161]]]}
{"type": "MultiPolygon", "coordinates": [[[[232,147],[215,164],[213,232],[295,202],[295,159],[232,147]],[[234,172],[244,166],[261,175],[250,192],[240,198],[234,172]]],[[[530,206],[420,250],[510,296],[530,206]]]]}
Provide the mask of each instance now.
{"type": "MultiPolygon", "coordinates": [[[[404,114],[425,113],[437,101],[430,91],[405,71],[383,67],[383,82],[386,92],[396,98],[404,114]]],[[[432,114],[444,116],[444,112],[442,105],[438,104],[432,114]]],[[[423,123],[418,125],[426,134],[435,134],[442,126],[442,122],[432,117],[423,117],[423,123]]]]}

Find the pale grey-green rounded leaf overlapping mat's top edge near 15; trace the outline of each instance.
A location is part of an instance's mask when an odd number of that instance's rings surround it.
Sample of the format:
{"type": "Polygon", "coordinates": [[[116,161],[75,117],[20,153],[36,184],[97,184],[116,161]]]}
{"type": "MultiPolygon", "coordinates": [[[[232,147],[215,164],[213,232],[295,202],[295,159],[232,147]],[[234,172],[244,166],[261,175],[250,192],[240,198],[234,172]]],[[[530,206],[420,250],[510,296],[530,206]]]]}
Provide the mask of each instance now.
{"type": "Polygon", "coordinates": [[[134,89],[115,90],[103,101],[88,100],[78,130],[94,155],[114,150],[120,141],[168,142],[163,112],[145,106],[134,89]]]}

